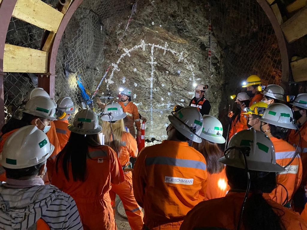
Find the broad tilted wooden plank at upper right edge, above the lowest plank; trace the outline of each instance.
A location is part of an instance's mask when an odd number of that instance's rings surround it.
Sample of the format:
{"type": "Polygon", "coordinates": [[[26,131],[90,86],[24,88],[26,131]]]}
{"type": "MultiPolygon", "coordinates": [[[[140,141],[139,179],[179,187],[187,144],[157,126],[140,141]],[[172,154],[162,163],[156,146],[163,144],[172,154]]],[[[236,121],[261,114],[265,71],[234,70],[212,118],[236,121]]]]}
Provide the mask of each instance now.
{"type": "Polygon", "coordinates": [[[289,43],[307,34],[307,6],[294,14],[281,25],[282,31],[289,43]]]}

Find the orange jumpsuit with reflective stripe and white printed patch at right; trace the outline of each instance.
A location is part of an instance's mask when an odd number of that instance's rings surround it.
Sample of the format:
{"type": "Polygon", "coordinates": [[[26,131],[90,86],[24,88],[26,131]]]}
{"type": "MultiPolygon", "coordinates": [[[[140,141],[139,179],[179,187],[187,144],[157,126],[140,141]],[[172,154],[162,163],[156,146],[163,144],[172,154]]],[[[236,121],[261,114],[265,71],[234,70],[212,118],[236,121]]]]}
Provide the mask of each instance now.
{"type": "MultiPolygon", "coordinates": [[[[276,163],[281,166],[286,166],[292,159],[295,149],[285,140],[271,137],[275,148],[276,163]]],[[[282,204],[286,200],[286,190],[288,190],[288,201],[293,197],[302,180],[302,161],[299,155],[294,158],[293,162],[283,172],[278,173],[276,176],[277,187],[270,193],[270,197],[273,201],[282,204]],[[282,184],[278,185],[278,184],[282,184]]]]}

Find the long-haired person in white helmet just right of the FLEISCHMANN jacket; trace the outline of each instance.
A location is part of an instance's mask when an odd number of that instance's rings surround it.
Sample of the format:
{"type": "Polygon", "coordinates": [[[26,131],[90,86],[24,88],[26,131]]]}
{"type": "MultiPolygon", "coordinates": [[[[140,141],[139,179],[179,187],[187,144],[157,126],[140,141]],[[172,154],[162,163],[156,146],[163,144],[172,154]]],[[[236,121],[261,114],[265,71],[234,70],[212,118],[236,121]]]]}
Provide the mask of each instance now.
{"type": "Polygon", "coordinates": [[[200,144],[193,142],[192,147],[200,151],[206,159],[208,185],[205,200],[210,200],[224,197],[229,190],[225,166],[217,161],[223,156],[217,144],[223,144],[226,140],[223,137],[223,126],[217,118],[204,115],[203,119],[203,131],[200,134],[203,140],[200,144]]]}

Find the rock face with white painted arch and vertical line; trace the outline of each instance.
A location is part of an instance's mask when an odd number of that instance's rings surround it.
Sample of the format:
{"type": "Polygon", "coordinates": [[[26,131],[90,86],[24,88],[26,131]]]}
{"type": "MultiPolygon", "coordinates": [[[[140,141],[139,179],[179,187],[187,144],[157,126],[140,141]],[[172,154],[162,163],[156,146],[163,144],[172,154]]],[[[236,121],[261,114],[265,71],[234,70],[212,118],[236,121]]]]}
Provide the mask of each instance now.
{"type": "MultiPolygon", "coordinates": [[[[105,38],[105,68],[113,58],[128,21],[110,22],[105,38]]],[[[99,94],[116,97],[119,88],[132,90],[132,101],[147,118],[146,138],[163,140],[174,105],[187,106],[193,84],[208,84],[205,97],[210,114],[218,116],[223,94],[223,69],[214,37],[211,71],[208,68],[208,6],[205,1],[143,1],[137,6],[99,94]]],[[[107,102],[107,101],[106,101],[107,102]]]]}

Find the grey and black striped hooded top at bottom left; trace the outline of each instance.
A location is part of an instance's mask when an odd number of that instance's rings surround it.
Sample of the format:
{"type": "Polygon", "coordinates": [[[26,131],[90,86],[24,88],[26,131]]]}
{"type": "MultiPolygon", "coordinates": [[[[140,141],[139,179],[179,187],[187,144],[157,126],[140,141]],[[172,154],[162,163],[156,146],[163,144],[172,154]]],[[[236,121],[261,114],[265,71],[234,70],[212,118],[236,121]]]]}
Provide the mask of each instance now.
{"type": "MultiPolygon", "coordinates": [[[[10,180],[14,181],[18,182],[10,180]]],[[[76,203],[68,194],[40,182],[30,187],[10,182],[0,184],[0,229],[28,229],[40,218],[50,229],[83,229],[76,203]]]]}

